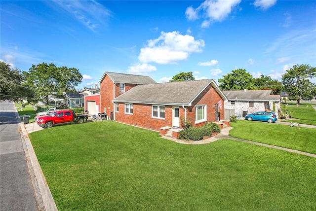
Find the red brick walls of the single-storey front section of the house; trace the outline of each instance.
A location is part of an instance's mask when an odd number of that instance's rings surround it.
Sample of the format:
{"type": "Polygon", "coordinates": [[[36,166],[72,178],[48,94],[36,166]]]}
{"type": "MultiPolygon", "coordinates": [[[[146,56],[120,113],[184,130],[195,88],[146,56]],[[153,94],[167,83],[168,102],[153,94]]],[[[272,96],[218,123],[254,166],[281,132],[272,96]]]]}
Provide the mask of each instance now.
{"type": "MultiPolygon", "coordinates": [[[[194,127],[204,125],[205,122],[195,124],[195,105],[207,105],[207,122],[215,121],[215,104],[221,100],[219,94],[215,89],[209,85],[193,102],[194,106],[185,106],[187,108],[187,118],[191,118],[191,123],[194,127]]],[[[148,128],[159,131],[159,128],[165,126],[172,126],[172,106],[165,106],[165,119],[158,119],[152,117],[152,105],[133,104],[133,114],[125,114],[125,104],[119,104],[119,112],[116,113],[116,121],[148,128]]],[[[180,117],[184,116],[184,109],[179,106],[180,117]]],[[[224,102],[222,102],[222,109],[218,108],[221,116],[224,117],[224,102]]],[[[180,125],[181,127],[181,125],[180,125]]]]}

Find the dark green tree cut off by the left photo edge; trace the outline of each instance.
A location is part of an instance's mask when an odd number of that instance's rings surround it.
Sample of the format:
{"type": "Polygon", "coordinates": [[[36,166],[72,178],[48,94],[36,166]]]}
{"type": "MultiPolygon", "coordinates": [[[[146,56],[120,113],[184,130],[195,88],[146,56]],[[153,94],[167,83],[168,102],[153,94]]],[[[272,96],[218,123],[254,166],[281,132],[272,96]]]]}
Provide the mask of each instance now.
{"type": "Polygon", "coordinates": [[[23,84],[24,80],[24,74],[19,69],[11,69],[11,65],[0,62],[0,99],[31,101],[34,92],[23,84]]]}

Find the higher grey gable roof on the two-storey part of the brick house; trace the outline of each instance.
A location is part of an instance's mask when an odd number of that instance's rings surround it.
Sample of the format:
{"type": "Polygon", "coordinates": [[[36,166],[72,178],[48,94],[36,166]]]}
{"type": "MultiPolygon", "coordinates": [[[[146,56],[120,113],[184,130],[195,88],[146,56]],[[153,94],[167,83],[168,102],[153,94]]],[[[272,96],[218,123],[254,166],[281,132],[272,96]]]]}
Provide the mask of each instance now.
{"type": "Polygon", "coordinates": [[[156,81],[146,75],[132,75],[117,72],[105,72],[99,81],[101,83],[108,75],[114,83],[132,83],[132,84],[154,84],[156,81]]]}

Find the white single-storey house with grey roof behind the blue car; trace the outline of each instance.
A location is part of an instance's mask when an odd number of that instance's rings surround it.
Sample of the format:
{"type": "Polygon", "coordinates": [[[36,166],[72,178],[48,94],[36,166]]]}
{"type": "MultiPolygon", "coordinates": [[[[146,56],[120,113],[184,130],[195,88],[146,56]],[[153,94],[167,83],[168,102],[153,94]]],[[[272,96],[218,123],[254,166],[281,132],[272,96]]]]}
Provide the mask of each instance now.
{"type": "Polygon", "coordinates": [[[278,115],[280,95],[272,90],[227,90],[223,91],[228,98],[225,109],[235,109],[233,113],[244,117],[256,111],[274,111],[278,115]]]}

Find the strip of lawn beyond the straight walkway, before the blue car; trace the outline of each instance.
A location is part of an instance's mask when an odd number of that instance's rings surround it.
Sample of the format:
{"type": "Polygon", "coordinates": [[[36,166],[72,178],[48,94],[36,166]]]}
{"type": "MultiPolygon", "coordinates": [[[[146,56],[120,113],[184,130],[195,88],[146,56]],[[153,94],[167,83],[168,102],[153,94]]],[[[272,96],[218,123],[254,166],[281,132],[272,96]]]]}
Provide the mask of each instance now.
{"type": "Polygon", "coordinates": [[[316,154],[316,129],[238,120],[230,136],[316,154]]]}

